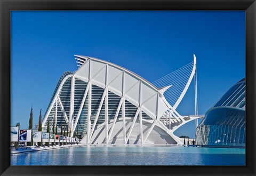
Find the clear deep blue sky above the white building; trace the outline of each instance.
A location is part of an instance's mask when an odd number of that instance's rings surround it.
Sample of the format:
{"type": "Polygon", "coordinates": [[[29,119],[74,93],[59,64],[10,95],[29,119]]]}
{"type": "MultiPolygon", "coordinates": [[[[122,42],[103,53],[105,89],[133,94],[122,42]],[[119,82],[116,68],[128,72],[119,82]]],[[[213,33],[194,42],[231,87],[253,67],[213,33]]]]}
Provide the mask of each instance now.
{"type": "MultiPolygon", "coordinates": [[[[11,125],[38,123],[74,54],[154,82],[197,57],[198,114],[245,77],[245,11],[12,11],[11,125]]],[[[194,82],[193,82],[194,83],[194,82]]],[[[194,115],[194,84],[178,112],[194,115]]],[[[190,122],[175,133],[195,136],[190,122]]]]}

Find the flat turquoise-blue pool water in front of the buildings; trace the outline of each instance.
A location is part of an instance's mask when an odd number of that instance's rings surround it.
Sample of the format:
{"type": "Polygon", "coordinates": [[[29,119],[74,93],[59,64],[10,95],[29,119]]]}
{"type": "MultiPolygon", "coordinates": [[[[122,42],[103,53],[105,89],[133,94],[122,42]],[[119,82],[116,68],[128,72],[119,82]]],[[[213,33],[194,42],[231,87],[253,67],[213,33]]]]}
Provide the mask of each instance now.
{"type": "Polygon", "coordinates": [[[13,154],[11,165],[245,165],[245,149],[78,146],[13,154]]]}

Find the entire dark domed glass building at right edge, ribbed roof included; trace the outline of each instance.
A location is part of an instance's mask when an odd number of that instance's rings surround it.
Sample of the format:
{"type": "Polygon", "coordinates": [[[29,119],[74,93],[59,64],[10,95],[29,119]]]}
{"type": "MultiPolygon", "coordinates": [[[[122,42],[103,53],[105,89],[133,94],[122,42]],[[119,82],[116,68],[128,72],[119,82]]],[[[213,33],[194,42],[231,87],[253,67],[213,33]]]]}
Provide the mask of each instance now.
{"type": "Polygon", "coordinates": [[[245,147],[245,78],[206,112],[196,129],[195,144],[245,147]]]}

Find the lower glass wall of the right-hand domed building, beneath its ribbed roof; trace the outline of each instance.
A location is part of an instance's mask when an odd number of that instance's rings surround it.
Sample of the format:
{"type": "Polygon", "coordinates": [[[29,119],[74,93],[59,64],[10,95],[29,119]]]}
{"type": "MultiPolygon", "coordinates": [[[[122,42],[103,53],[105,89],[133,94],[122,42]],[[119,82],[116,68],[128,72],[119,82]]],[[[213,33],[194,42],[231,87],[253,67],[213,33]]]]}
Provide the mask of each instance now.
{"type": "Polygon", "coordinates": [[[245,110],[232,107],[209,110],[196,129],[195,144],[245,146],[245,110]]]}

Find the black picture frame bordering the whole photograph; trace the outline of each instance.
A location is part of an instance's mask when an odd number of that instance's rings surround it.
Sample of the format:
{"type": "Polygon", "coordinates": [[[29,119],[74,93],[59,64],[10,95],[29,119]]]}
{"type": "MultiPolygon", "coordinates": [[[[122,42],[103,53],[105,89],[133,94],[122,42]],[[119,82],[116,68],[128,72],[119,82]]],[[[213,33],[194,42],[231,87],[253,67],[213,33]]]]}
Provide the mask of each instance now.
{"type": "Polygon", "coordinates": [[[254,0],[0,0],[1,175],[255,175],[256,2],[254,0]],[[245,10],[246,166],[10,166],[10,12],[14,10],[245,10]],[[9,135],[3,135],[9,134],[9,135]]]}

